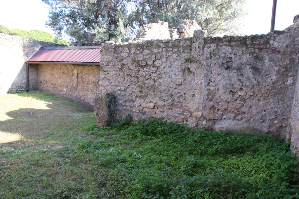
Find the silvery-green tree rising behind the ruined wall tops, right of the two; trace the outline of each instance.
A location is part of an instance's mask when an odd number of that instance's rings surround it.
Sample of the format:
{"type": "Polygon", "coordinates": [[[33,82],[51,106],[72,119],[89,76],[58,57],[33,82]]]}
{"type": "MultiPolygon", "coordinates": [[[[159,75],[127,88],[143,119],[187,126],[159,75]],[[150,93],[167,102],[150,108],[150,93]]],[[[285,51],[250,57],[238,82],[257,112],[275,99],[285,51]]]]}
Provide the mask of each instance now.
{"type": "Polygon", "coordinates": [[[144,24],[167,21],[176,27],[180,19],[193,19],[209,35],[238,33],[245,0],[134,0],[133,21],[144,24]]]}

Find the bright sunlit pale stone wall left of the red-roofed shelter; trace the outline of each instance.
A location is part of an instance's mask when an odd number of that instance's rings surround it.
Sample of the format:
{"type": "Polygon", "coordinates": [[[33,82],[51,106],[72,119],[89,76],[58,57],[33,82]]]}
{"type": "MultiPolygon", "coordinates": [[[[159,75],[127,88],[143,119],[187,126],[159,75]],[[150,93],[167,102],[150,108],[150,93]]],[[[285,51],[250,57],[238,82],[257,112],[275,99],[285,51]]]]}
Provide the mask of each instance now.
{"type": "MultiPolygon", "coordinates": [[[[26,90],[25,61],[40,47],[56,45],[0,33],[0,93],[26,90]]],[[[34,68],[31,68],[30,71],[32,74],[36,74],[34,68]]],[[[31,77],[36,78],[33,75],[31,77]]]]}

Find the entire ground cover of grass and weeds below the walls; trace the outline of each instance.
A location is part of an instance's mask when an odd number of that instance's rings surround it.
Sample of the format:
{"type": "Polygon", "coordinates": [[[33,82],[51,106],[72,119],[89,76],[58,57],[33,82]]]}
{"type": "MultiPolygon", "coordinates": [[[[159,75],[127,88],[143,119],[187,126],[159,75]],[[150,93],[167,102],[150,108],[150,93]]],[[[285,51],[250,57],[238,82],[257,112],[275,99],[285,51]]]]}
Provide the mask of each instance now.
{"type": "Polygon", "coordinates": [[[130,115],[97,128],[91,109],[51,94],[0,99],[0,198],[299,197],[283,140],[130,115]]]}

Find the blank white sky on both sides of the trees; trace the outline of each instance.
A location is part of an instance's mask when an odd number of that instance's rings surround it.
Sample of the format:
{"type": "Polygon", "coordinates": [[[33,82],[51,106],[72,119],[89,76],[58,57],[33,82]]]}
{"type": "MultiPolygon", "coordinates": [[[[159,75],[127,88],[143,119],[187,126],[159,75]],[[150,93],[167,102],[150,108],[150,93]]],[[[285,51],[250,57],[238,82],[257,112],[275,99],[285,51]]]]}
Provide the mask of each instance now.
{"type": "MultiPolygon", "coordinates": [[[[244,35],[270,32],[273,0],[246,0],[247,15],[242,20],[244,35]]],[[[293,24],[293,17],[299,14],[299,0],[277,0],[275,30],[284,30],[293,24]]],[[[48,6],[41,0],[1,0],[0,24],[10,29],[43,30],[48,20],[48,6]]]]}

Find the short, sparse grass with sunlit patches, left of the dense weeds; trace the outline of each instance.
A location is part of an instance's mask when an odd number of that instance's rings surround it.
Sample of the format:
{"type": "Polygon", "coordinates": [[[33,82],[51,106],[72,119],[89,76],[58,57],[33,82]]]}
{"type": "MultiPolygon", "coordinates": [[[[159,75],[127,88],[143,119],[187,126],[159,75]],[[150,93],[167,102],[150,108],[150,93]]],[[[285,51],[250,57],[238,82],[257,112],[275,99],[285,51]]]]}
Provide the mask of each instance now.
{"type": "Polygon", "coordinates": [[[91,108],[52,94],[0,95],[0,198],[84,198],[94,171],[75,148],[93,122],[91,108]]]}

